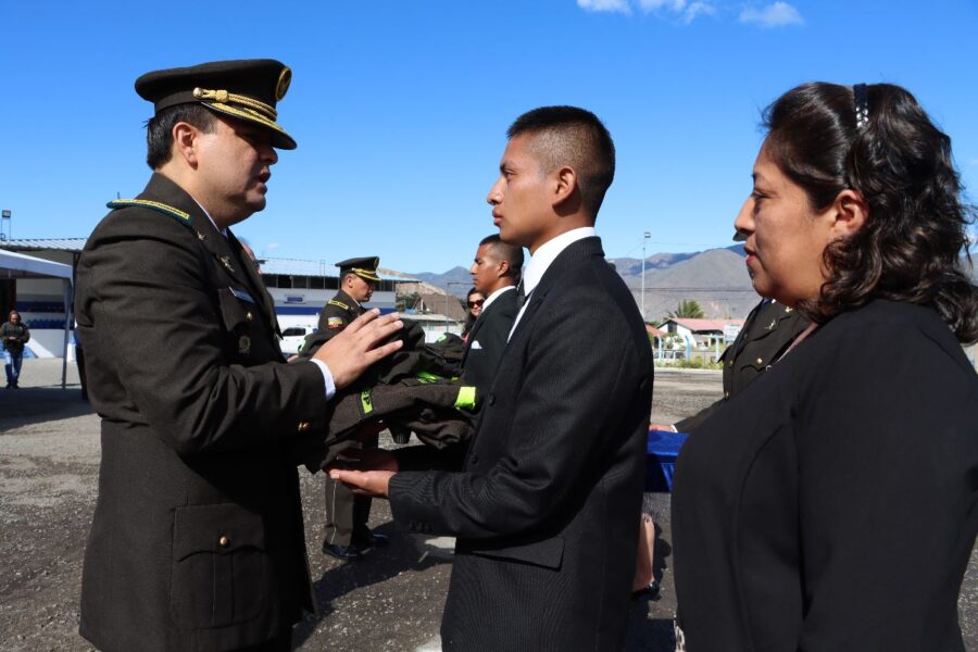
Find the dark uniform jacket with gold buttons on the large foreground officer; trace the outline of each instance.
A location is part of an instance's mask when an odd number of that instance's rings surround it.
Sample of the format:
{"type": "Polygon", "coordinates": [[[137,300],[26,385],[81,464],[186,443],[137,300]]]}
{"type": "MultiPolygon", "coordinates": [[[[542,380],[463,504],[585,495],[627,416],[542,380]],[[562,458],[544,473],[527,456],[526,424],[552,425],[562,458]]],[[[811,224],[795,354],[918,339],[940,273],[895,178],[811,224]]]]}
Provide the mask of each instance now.
{"type": "Polygon", "coordinates": [[[296,463],[326,425],[323,376],[283,363],[272,299],[240,244],[173,181],[88,239],[75,296],[99,497],[82,635],[99,649],[226,650],[311,609],[296,463]]]}

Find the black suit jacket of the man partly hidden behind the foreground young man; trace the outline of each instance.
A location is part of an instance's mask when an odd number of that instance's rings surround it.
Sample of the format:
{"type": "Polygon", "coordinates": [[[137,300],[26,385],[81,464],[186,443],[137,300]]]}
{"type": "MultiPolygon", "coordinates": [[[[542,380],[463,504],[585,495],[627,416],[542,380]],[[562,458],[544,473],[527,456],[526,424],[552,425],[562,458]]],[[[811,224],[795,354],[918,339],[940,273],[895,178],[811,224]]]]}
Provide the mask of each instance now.
{"type": "Polygon", "coordinates": [[[479,396],[489,391],[517,312],[516,289],[506,290],[479,313],[468,333],[468,343],[462,356],[462,377],[466,385],[478,388],[479,396]]]}

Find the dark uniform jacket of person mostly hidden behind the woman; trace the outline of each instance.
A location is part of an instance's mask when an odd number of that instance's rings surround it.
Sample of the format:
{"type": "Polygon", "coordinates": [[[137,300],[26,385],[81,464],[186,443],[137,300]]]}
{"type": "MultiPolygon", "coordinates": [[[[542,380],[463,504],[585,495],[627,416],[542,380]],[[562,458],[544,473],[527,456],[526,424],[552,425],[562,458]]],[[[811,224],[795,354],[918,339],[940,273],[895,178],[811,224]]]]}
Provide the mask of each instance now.
{"type": "Polygon", "coordinates": [[[762,301],[755,305],[734,343],[720,356],[724,364],[724,398],[676,422],[676,429],[689,432],[698,428],[724,402],[740,393],[769,368],[808,324],[804,314],[781,303],[762,301]]]}

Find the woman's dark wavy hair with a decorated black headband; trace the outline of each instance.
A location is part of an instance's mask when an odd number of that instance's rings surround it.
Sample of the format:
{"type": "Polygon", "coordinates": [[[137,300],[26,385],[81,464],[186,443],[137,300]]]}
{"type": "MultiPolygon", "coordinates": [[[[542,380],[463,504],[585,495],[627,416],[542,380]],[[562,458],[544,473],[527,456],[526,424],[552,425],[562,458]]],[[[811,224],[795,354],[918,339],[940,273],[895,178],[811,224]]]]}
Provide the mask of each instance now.
{"type": "Polygon", "coordinates": [[[842,190],[868,204],[865,225],[825,250],[831,278],[799,308],[816,322],[882,298],[932,305],[962,342],[978,340],[978,287],[965,271],[974,206],[961,198],[951,138],[917,100],[890,84],[867,87],[868,123],[856,127],[853,89],[804,84],[764,112],[765,149],[827,209],[842,190]]]}

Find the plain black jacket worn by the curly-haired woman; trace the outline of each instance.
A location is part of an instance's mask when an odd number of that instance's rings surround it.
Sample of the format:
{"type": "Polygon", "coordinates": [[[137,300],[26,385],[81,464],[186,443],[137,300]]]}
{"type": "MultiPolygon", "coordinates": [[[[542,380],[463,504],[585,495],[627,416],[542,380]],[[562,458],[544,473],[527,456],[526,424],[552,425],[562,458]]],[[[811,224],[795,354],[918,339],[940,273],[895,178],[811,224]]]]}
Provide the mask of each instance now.
{"type": "Polygon", "coordinates": [[[728,401],[673,485],[688,649],[964,650],[976,415],[948,326],[888,301],[837,316],[728,401]]]}

